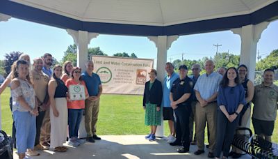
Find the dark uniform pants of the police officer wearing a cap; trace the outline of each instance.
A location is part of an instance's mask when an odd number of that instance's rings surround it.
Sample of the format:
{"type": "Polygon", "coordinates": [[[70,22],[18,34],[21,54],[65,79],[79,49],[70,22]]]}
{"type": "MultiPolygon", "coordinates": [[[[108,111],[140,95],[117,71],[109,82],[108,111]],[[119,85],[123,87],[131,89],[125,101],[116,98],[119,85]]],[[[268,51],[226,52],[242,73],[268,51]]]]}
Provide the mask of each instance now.
{"type": "Polygon", "coordinates": [[[177,123],[177,139],[181,140],[181,144],[186,149],[189,149],[190,139],[189,139],[189,116],[191,113],[190,105],[182,105],[177,109],[174,109],[174,114],[176,114],[177,123]]]}

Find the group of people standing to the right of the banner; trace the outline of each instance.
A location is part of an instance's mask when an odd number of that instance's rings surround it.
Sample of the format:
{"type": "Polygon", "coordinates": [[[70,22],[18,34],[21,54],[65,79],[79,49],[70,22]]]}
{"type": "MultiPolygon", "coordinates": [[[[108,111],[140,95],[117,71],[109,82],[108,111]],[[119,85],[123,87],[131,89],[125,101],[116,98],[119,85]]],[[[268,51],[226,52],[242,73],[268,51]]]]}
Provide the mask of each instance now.
{"type": "Polygon", "coordinates": [[[240,158],[242,151],[231,142],[238,127],[249,127],[251,103],[254,104],[252,123],[256,135],[271,142],[278,109],[278,86],[273,84],[275,71],[266,69],[263,82],[254,86],[247,78],[247,66],[220,68],[207,60],[206,73],[200,75],[201,66],[192,66],[193,75],[188,77],[188,68],[179,66],[174,73],[172,63],[165,64],[167,76],[163,82],[156,79],[156,70],[149,72],[145,84],[143,107],[145,125],[151,132],[145,138],[156,139],[156,127],[161,125],[161,114],[167,120],[170,135],[164,137],[171,146],[179,145],[179,153],[189,151],[190,144],[197,144],[195,155],[204,153],[204,132],[208,130],[208,158],[240,158]],[[163,112],[161,112],[163,111],[163,112]],[[193,133],[195,123],[195,135],[193,133]]]}

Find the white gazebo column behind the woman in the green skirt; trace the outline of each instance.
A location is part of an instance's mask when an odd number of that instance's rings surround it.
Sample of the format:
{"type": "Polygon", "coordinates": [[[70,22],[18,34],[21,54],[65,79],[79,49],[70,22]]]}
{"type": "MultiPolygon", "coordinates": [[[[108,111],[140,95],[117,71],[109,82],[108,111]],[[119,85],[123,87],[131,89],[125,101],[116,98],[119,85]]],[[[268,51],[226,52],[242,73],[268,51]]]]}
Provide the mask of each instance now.
{"type": "MultiPolygon", "coordinates": [[[[171,47],[172,43],[179,38],[179,36],[148,36],[149,40],[156,44],[157,48],[157,62],[156,71],[157,79],[163,82],[165,77],[165,63],[167,62],[167,50],[171,47]]],[[[161,111],[162,112],[162,111],[161,111]]],[[[161,113],[162,114],[162,113],[161,113]]],[[[157,127],[157,137],[163,137],[163,116],[161,116],[161,126],[157,127]]]]}

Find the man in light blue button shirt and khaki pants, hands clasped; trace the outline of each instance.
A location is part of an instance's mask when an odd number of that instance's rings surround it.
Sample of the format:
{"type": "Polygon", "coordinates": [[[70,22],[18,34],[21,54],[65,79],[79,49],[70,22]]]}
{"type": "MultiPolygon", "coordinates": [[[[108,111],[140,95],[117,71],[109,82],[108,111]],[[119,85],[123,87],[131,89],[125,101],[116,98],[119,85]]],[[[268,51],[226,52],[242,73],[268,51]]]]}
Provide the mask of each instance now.
{"type": "Polygon", "coordinates": [[[214,63],[207,60],[205,63],[206,73],[201,75],[194,86],[196,98],[196,124],[197,124],[197,146],[198,150],[195,155],[204,153],[204,129],[208,123],[209,130],[209,152],[208,158],[214,158],[213,151],[215,147],[216,132],[216,97],[218,95],[218,86],[222,79],[222,75],[213,72],[214,63]]]}

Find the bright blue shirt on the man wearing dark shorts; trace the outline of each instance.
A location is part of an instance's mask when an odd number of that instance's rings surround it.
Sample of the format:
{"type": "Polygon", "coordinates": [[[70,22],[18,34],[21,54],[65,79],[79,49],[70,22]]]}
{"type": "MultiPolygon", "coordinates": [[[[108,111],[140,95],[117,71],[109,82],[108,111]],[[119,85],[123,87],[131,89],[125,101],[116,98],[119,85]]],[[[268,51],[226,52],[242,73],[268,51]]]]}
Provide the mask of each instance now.
{"type": "Polygon", "coordinates": [[[173,82],[179,78],[177,73],[173,73],[170,77],[166,76],[163,80],[163,99],[162,107],[171,107],[170,104],[170,91],[172,89],[173,82]]]}

